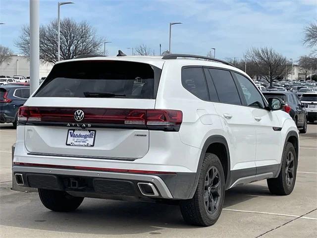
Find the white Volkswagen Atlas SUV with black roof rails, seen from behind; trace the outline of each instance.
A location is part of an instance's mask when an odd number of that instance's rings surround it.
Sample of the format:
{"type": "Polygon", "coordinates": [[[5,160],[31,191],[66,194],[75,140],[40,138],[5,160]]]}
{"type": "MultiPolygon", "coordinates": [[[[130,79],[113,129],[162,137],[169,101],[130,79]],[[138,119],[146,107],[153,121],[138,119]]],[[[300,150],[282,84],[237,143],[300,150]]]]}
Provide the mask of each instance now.
{"type": "Polygon", "coordinates": [[[267,179],[292,192],[299,136],[282,107],[212,58],[64,60],[19,110],[13,173],[53,211],[84,197],[174,200],[186,222],[210,226],[226,189],[267,179]]]}

